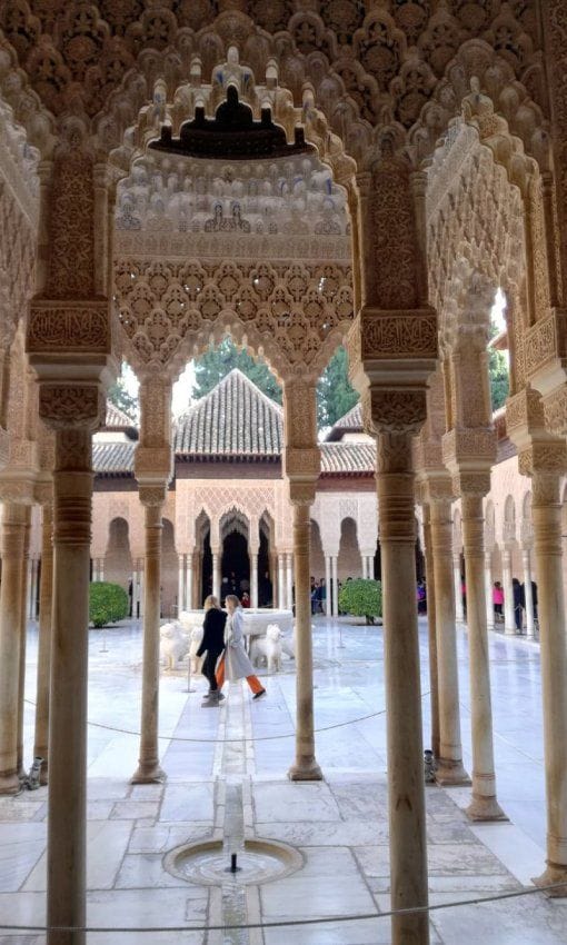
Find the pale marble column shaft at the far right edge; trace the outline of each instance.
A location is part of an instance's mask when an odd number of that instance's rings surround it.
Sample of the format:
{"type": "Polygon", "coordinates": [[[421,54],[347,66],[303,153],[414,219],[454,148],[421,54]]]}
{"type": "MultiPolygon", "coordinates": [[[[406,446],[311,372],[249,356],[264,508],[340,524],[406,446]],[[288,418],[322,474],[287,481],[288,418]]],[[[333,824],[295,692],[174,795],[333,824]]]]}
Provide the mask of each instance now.
{"type": "Polygon", "coordinates": [[[567,895],[567,637],[561,574],[559,477],[534,474],[534,551],[544,696],[547,867],[536,883],[567,895]]]}

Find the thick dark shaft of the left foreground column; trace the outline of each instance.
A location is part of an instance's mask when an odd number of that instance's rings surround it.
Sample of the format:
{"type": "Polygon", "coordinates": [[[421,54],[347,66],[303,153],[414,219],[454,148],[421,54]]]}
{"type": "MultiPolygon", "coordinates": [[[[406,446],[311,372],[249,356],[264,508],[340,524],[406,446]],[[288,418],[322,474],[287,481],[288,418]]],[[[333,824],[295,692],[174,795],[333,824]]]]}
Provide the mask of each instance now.
{"type": "MultiPolygon", "coordinates": [[[[48,925],[83,926],[87,867],[87,680],[92,438],[56,430],[53,613],[49,696],[48,925]]],[[[49,932],[48,945],[84,945],[49,932]]]]}

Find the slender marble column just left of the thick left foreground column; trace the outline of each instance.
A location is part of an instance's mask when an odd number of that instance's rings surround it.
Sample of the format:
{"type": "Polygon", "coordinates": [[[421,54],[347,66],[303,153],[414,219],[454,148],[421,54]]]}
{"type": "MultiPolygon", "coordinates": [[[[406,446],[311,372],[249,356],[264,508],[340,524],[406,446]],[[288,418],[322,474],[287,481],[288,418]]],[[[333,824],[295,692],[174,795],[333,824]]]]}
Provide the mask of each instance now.
{"type": "Polygon", "coordinates": [[[38,682],[33,757],[43,758],[41,784],[49,770],[49,677],[51,672],[51,611],[53,606],[53,510],[43,506],[41,523],[41,580],[39,586],[38,682]]]}

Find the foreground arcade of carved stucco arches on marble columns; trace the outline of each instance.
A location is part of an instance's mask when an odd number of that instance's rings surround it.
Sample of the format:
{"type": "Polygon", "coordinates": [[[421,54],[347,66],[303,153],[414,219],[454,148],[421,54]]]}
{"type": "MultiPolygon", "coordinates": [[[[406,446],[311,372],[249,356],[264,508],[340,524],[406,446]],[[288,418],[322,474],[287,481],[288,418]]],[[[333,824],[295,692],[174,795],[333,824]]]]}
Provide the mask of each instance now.
{"type": "MultiPolygon", "coordinates": [[[[284,382],[297,600],[297,743],[290,777],[321,777],[314,739],[309,610],[309,518],[319,471],[315,384],[347,335],[351,375],[362,395],[367,428],[377,439],[392,907],[427,905],[416,495],[424,506],[429,586],[435,588],[430,644],[440,779],[462,784],[468,777],[460,750],[452,630],[450,501],[457,496],[474,706],[469,815],[504,816],[493,755],[483,516],[495,458],[486,341],[499,286],[507,296],[511,350],[507,427],[519,469],[533,483],[548,816],[547,867],[539,882],[567,879],[559,508],[559,480],[567,466],[563,0],[544,4],[541,22],[536,3],[496,4],[494,19],[484,2],[436,4],[429,19],[425,3],[400,3],[398,20],[389,2],[347,4],[352,22],[342,29],[326,2],[282,2],[288,16],[296,11],[285,33],[286,23],[257,24],[261,3],[237,0],[195,4],[197,22],[182,21],[193,16],[183,4],[161,8],[152,2],[142,12],[143,4],[133,3],[133,16],[140,16],[133,30],[109,24],[91,6],[68,4],[60,19],[56,2],[31,6],[37,16],[23,0],[0,4],[6,36],[1,91],[13,109],[13,119],[8,115],[6,120],[21,126],[12,153],[6,156],[13,175],[7,175],[0,199],[7,223],[1,298],[8,352],[0,437],[0,789],[18,789],[22,766],[26,558],[30,506],[40,503],[47,561],[52,529],[52,576],[49,565],[41,574],[36,739],[36,750],[49,757],[49,924],[84,924],[91,439],[102,419],[105,390],[125,354],[141,381],[136,476],[146,524],[142,737],[133,780],[149,783],[163,776],[157,740],[158,629],[161,515],[171,474],[171,382],[190,354],[227,327],[237,340],[265,350],[284,382]],[[206,6],[211,24],[199,30],[207,21],[206,6]],[[318,14],[319,6],[327,21],[318,14]],[[410,6],[421,19],[405,20],[410,6]],[[235,43],[253,71],[238,72],[233,50],[229,56],[235,43]],[[551,63],[548,88],[534,51],[543,43],[551,63]],[[354,57],[345,54],[347,48],[354,57]],[[201,74],[211,73],[212,84],[203,84],[201,74]],[[261,74],[265,84],[255,86],[253,76],[261,74]],[[165,322],[152,320],[150,311],[147,328],[153,330],[141,334],[160,348],[156,357],[156,346],[137,347],[140,336],[130,331],[121,288],[125,273],[115,271],[117,182],[143,158],[165,121],[177,135],[196,103],[212,117],[229,83],[239,87],[257,118],[269,102],[289,140],[300,121],[306,139],[346,189],[354,317],[330,305],[322,320],[320,306],[286,299],[286,311],[294,314],[290,329],[281,309],[278,315],[277,306],[262,308],[260,299],[248,296],[251,308],[235,306],[227,312],[192,305],[188,318],[178,310],[176,330],[168,326],[163,338],[165,322]],[[36,160],[31,169],[30,155],[36,160]],[[22,175],[33,179],[36,209],[22,175]],[[121,321],[113,294],[120,297],[121,321]]],[[[111,19],[113,4],[99,6],[111,19]]],[[[143,307],[132,309],[131,317],[143,320],[143,307]]],[[[48,941],[80,945],[84,934],[52,929],[48,941]]],[[[427,914],[394,916],[392,942],[425,945],[427,914]]]]}

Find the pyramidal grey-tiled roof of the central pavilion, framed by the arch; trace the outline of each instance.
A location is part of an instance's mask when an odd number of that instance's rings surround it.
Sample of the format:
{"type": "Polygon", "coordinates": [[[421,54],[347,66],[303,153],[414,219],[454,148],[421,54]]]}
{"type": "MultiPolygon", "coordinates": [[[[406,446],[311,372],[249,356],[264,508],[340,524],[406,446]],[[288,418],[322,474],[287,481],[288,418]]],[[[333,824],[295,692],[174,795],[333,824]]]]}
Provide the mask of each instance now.
{"type": "Polygon", "coordinates": [[[272,456],[284,448],[282,410],[235,368],[177,420],[182,456],[272,456]]]}

